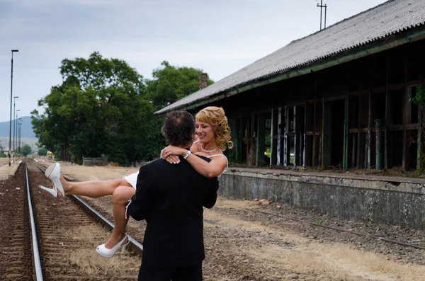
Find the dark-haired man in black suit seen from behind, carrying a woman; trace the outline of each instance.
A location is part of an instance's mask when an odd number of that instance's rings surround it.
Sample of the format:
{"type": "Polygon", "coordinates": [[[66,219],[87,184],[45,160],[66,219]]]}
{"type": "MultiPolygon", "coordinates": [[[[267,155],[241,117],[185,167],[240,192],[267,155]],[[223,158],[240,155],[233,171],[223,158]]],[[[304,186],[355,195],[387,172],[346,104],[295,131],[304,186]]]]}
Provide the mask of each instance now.
{"type": "MultiPolygon", "coordinates": [[[[167,143],[188,149],[195,120],[186,111],[174,111],[166,117],[162,134],[167,143]]],[[[133,219],[147,222],[138,280],[202,280],[203,207],[215,205],[218,180],[196,172],[186,161],[190,153],[179,156],[177,165],[158,159],[140,168],[128,205],[133,219]]]]}

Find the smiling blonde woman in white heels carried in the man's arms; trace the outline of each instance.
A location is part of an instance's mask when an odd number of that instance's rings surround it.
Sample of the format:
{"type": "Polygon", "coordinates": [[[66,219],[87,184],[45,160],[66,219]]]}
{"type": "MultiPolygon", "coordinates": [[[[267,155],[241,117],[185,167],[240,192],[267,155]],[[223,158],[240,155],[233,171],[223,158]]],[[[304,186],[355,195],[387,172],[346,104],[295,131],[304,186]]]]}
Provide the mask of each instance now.
{"type": "MultiPolygon", "coordinates": [[[[186,161],[205,177],[221,176],[228,166],[227,157],[222,151],[225,151],[227,147],[229,149],[233,147],[225,111],[215,106],[200,110],[196,114],[196,135],[198,140],[193,142],[191,152],[206,156],[211,161],[207,162],[191,155],[187,157],[186,161]]],[[[161,156],[170,164],[179,164],[179,155],[185,156],[187,152],[186,149],[168,146],[162,150],[161,156]]],[[[56,163],[47,168],[45,175],[52,180],[54,188],[45,188],[42,185],[40,185],[40,188],[54,197],[62,197],[63,195],[83,195],[87,197],[113,195],[115,228],[108,241],[98,246],[96,251],[101,256],[111,258],[121,246],[128,244],[128,238],[125,234],[128,217],[125,215],[125,210],[132,195],[135,195],[138,172],[115,180],[90,180],[71,183],[60,175],[60,165],[56,163]]]]}

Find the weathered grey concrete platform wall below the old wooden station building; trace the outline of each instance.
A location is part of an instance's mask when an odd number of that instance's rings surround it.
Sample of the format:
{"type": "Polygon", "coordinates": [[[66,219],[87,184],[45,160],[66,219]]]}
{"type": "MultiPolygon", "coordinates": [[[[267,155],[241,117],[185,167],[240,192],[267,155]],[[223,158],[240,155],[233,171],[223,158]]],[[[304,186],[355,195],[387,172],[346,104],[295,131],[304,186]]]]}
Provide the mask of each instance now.
{"type": "Polygon", "coordinates": [[[423,229],[425,180],[229,168],[219,193],[271,199],[344,219],[423,229]]]}

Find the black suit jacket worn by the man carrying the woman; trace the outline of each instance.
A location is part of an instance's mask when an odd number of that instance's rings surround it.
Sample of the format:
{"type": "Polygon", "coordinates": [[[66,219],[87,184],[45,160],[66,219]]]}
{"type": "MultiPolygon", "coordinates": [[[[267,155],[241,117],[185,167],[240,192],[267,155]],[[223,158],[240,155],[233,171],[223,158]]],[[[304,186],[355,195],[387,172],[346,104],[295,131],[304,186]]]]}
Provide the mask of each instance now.
{"type": "Polygon", "coordinates": [[[179,164],[158,159],[140,168],[128,214],[147,222],[143,266],[181,268],[202,263],[203,207],[215,205],[217,189],[217,178],[201,176],[183,157],[179,164]]]}

